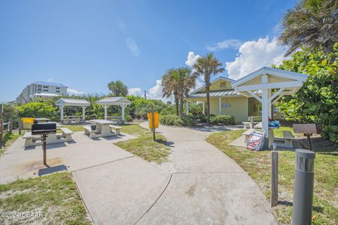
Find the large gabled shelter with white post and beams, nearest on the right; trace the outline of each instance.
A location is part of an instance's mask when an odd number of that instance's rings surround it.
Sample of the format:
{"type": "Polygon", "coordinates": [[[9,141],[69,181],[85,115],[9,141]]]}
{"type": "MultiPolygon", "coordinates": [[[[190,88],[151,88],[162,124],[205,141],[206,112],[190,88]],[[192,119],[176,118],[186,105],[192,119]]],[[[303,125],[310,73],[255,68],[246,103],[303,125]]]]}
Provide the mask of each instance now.
{"type": "Polygon", "coordinates": [[[234,91],[246,97],[256,98],[262,105],[262,129],[265,131],[268,147],[273,144],[269,139],[269,117],[272,118],[272,105],[282,96],[295,94],[308,75],[275,68],[261,68],[241,79],[232,82],[234,91]]]}

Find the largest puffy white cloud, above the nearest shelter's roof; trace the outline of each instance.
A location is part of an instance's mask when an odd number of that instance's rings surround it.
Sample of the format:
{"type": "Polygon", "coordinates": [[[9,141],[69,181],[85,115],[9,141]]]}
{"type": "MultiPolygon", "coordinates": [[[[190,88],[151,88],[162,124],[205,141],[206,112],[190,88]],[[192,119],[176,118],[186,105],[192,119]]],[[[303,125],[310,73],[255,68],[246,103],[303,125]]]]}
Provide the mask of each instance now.
{"type": "Polygon", "coordinates": [[[227,74],[232,79],[239,79],[264,66],[280,65],[287,59],[284,58],[285,51],[286,47],[278,45],[276,38],[246,41],[234,61],[225,63],[227,74]]]}

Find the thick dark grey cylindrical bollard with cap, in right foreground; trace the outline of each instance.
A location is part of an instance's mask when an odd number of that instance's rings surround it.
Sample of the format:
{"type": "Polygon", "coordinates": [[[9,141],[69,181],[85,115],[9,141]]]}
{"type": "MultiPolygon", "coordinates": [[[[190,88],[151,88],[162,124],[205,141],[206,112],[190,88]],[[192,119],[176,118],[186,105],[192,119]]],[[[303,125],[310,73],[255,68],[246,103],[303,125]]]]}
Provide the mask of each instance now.
{"type": "Polygon", "coordinates": [[[292,224],[311,224],[313,200],[313,168],[315,153],[311,150],[296,149],[294,170],[294,209],[292,224]]]}

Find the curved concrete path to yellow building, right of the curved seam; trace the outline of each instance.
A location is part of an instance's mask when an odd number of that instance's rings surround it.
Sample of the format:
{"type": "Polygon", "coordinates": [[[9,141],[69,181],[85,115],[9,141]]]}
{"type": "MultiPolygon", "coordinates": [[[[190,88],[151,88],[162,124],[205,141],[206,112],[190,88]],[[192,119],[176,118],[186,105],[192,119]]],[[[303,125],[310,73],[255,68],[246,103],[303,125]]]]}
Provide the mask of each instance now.
{"type": "Polygon", "coordinates": [[[211,131],[168,126],[156,131],[172,143],[173,172],[137,224],[276,224],[253,179],[205,141],[211,131]]]}

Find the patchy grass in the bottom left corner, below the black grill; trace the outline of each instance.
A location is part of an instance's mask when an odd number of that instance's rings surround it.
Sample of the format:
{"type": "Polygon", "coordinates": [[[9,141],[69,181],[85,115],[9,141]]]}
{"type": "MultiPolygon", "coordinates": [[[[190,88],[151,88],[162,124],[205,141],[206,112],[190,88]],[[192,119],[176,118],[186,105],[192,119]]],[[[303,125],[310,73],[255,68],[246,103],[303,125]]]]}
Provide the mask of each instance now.
{"type": "Polygon", "coordinates": [[[1,212],[42,212],[42,217],[0,217],[0,224],[91,224],[68,172],[1,184],[1,212]]]}

